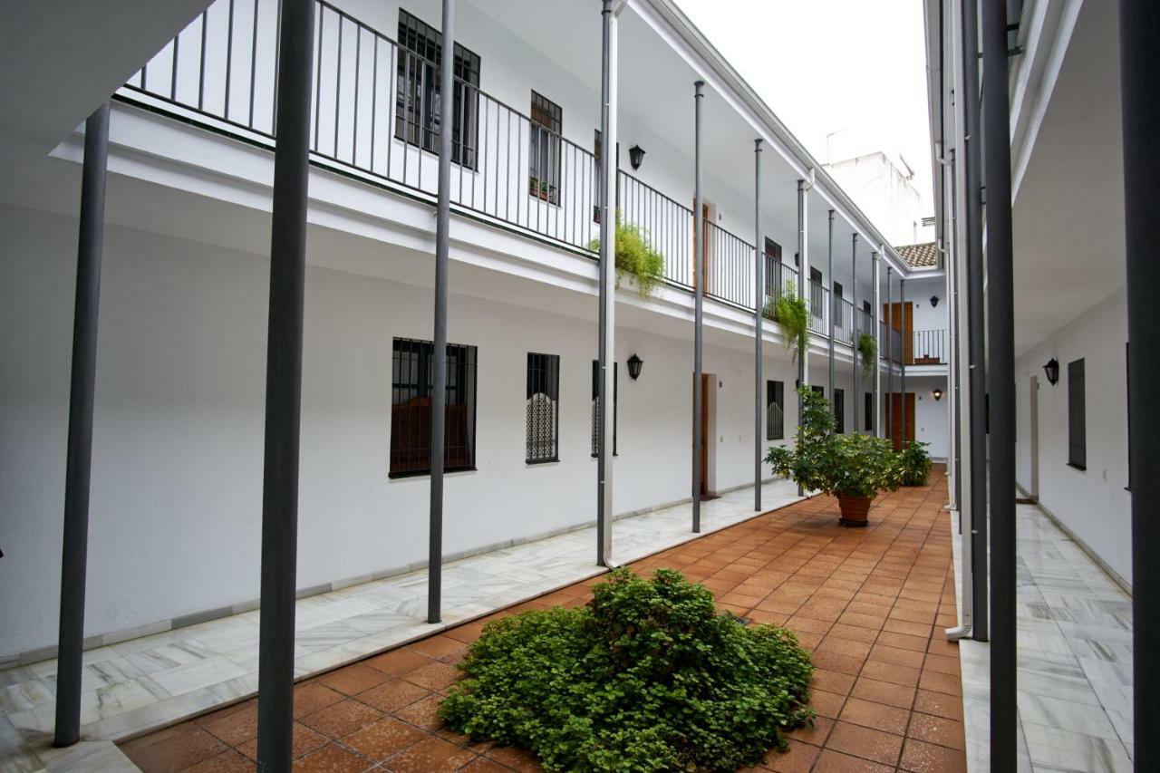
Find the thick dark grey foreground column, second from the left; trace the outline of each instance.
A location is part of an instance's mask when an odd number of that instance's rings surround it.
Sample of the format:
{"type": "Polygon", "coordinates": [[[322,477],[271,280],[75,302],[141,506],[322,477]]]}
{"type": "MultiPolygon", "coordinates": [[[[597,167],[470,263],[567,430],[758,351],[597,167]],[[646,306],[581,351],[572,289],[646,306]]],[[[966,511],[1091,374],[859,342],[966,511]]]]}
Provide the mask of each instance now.
{"type": "Polygon", "coordinates": [[[266,337],[262,595],[258,644],[258,770],[263,772],[289,771],[292,760],[313,0],[283,0],[280,29],[270,308],[266,337]]]}

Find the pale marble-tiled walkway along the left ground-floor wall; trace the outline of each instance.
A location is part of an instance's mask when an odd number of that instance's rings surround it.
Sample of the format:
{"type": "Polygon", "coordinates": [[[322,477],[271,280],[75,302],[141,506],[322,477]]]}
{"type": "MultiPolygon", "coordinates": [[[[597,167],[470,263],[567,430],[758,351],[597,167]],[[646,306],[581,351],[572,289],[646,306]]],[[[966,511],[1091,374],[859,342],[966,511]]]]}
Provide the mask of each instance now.
{"type": "MultiPolygon", "coordinates": [[[[797,501],[788,481],[762,486],[767,507],[797,501]]],[[[753,489],[704,503],[713,532],[753,516],[753,489]]],[[[691,506],[612,525],[612,556],[631,561],[691,540],[691,506]]],[[[353,585],[298,601],[296,672],[307,677],[599,573],[595,527],[525,542],[444,566],[444,626],[425,621],[426,571],[353,585]]],[[[85,653],[81,736],[96,742],[165,727],[258,692],[258,620],[247,612],[85,653]]],[[[0,772],[106,770],[111,744],[48,749],[56,660],[0,670],[0,772]],[[101,757],[100,765],[93,759],[101,757]]],[[[110,754],[110,752],[113,752],[110,754]]]]}

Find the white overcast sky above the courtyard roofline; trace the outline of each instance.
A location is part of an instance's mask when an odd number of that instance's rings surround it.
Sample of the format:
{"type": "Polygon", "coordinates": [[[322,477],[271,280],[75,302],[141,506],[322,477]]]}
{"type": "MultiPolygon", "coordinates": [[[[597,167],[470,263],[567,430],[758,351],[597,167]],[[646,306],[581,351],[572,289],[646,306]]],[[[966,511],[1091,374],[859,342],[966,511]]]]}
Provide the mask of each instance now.
{"type": "Polygon", "coordinates": [[[921,0],[676,2],[814,158],[900,154],[931,207],[921,0]]]}

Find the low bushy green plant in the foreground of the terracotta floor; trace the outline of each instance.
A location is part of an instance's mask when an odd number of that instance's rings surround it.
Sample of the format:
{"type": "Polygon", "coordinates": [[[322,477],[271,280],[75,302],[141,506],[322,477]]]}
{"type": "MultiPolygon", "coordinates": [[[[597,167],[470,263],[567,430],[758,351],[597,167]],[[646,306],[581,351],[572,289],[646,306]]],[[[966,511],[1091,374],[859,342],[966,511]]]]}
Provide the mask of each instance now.
{"type": "Polygon", "coordinates": [[[618,569],[593,595],[487,623],[440,716],[550,771],[734,771],[812,715],[792,633],[718,615],[673,570],[618,569]]]}

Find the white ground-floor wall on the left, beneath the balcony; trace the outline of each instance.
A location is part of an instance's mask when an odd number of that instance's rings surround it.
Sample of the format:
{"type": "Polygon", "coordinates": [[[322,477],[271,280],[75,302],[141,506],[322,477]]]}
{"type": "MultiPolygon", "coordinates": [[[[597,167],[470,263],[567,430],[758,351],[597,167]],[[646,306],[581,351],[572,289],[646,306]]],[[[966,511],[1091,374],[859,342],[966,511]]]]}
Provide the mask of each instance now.
{"type": "MultiPolygon", "coordinates": [[[[0,207],[0,657],[56,638],[75,232],[75,219],[0,207]]],[[[267,282],[258,255],[107,230],[87,635],[256,598],[267,282]]],[[[427,478],[387,469],[392,338],[430,338],[429,292],[307,268],[300,587],[426,557],[427,478]]],[[[595,323],[454,294],[449,339],[479,347],[478,470],[448,476],[445,550],[592,521],[595,323]],[[524,463],[527,352],[561,355],[558,464],[524,463]]],[[[796,366],[767,351],[796,416],[796,366]]],[[[691,341],[622,328],[616,359],[616,512],[688,497],[691,341]]],[[[749,345],[706,346],[704,368],[720,383],[716,487],[745,484],[749,345]]]]}

